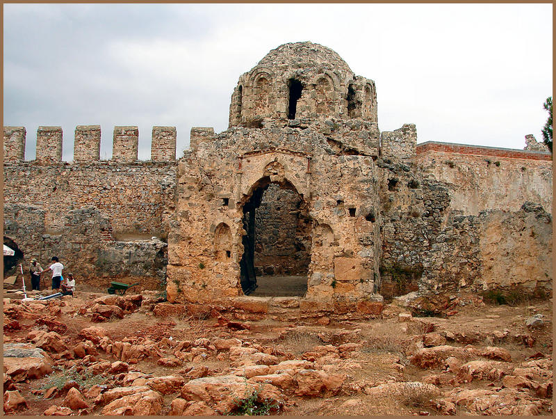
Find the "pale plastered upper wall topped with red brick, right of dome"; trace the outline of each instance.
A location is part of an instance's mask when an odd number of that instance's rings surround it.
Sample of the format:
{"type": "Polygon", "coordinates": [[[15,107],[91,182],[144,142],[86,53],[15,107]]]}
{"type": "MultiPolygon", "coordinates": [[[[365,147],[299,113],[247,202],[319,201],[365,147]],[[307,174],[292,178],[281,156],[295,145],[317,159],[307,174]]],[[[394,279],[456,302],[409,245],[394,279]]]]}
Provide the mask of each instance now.
{"type": "MultiPolygon", "coordinates": [[[[436,145],[432,143],[430,145],[436,145]]],[[[484,210],[518,211],[525,202],[552,212],[550,153],[455,145],[429,149],[420,145],[416,164],[424,176],[445,182],[450,208],[476,215],[484,210]],[[461,149],[461,150],[460,150],[461,149]],[[475,152],[463,154],[464,152],[475,152]]]]}

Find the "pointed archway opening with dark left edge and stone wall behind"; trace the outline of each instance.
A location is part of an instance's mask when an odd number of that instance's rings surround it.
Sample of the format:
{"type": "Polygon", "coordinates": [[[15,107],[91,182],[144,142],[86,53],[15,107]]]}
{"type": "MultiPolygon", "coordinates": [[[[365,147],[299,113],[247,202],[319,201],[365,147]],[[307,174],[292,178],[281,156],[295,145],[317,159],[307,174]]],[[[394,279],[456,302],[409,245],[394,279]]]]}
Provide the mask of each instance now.
{"type": "Polygon", "coordinates": [[[287,180],[263,177],[243,206],[244,294],[304,296],[311,261],[311,219],[303,197],[287,180]]]}

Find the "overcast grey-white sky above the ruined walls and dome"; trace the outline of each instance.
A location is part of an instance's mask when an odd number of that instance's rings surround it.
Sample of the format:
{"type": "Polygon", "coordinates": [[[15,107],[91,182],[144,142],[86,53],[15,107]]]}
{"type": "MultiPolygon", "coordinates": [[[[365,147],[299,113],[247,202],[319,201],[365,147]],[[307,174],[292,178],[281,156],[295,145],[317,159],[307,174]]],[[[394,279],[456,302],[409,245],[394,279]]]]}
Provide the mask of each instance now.
{"type": "Polygon", "coordinates": [[[503,148],[541,141],[552,95],[551,4],[4,4],[3,125],[227,129],[240,74],[270,49],[310,40],[334,49],[377,86],[379,129],[417,127],[418,143],[503,148]]]}

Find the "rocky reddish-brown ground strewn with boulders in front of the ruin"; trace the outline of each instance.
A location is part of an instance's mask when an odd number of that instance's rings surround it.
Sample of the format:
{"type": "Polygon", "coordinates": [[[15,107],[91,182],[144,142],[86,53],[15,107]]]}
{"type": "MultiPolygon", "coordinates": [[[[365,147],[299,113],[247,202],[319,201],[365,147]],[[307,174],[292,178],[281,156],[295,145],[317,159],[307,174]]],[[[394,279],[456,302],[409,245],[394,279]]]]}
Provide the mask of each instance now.
{"type": "Polygon", "coordinates": [[[551,300],[320,326],[161,317],[156,292],[21,299],[3,301],[12,415],[552,413],[551,300]]]}

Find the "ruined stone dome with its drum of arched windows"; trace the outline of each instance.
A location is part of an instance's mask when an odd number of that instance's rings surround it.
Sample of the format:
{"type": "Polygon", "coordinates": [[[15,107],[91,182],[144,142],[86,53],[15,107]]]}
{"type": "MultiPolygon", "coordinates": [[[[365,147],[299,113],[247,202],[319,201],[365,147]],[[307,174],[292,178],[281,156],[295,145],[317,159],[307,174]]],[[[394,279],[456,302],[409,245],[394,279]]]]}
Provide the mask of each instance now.
{"type": "Polygon", "coordinates": [[[269,120],[360,118],[377,121],[375,82],[355,76],[332,49],[294,42],[272,49],[241,75],[230,104],[230,127],[269,120]]]}

